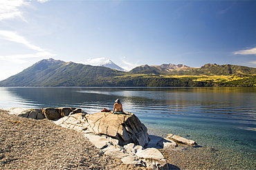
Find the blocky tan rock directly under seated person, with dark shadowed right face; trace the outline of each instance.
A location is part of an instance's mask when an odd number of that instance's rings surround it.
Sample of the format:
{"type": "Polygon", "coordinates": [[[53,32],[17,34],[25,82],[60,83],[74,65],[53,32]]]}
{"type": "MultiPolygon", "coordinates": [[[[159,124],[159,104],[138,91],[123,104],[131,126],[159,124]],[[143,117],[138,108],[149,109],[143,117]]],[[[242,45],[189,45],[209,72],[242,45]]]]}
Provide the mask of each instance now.
{"type": "Polygon", "coordinates": [[[145,147],[149,142],[147,127],[134,114],[100,112],[87,114],[85,117],[89,131],[93,134],[105,134],[116,138],[120,146],[134,143],[145,147]]]}

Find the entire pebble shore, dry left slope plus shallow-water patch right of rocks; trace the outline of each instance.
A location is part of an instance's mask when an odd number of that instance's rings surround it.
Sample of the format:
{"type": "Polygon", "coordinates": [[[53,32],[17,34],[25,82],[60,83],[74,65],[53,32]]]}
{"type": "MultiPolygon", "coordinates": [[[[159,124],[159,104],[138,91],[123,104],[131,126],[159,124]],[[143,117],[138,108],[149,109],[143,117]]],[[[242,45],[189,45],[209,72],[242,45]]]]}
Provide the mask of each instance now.
{"type": "MultiPolygon", "coordinates": [[[[209,147],[160,149],[170,169],[256,169],[253,158],[209,147]],[[248,162],[248,161],[252,162],[248,162]]],[[[252,156],[252,155],[250,155],[252,156]]],[[[102,154],[83,134],[0,109],[0,169],[136,169],[102,154]]]]}

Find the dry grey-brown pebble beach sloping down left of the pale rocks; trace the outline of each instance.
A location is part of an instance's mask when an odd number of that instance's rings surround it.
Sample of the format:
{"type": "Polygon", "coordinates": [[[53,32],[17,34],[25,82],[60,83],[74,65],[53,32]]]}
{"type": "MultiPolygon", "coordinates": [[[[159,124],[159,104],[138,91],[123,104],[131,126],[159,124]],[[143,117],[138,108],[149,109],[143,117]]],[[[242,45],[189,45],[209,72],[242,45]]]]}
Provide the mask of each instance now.
{"type": "Polygon", "coordinates": [[[0,109],[0,169],[134,169],[102,155],[75,130],[0,109]]]}

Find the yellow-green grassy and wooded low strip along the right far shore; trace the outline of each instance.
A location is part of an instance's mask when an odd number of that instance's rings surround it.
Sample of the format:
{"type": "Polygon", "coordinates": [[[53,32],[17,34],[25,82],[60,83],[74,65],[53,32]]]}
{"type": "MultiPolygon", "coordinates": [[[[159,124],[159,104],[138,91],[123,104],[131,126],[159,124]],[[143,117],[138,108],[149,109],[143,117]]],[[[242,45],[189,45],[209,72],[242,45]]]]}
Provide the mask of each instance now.
{"type": "MultiPolygon", "coordinates": [[[[145,82],[151,80],[146,86],[256,86],[256,74],[232,74],[232,75],[156,75],[156,74],[127,74],[115,76],[116,80],[140,79],[145,82]],[[194,83],[192,83],[192,82],[194,83]],[[197,83],[196,83],[197,82],[197,83]]],[[[118,82],[117,81],[117,82],[118,82]]],[[[132,85],[134,86],[134,84],[132,85]]]]}

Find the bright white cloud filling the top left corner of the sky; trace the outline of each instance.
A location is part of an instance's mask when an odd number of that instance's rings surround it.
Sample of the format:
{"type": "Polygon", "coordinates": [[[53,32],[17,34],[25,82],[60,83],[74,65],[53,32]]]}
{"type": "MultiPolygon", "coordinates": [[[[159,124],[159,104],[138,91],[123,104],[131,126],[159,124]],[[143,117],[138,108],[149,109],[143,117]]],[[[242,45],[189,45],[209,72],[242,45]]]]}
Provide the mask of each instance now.
{"type": "Polygon", "coordinates": [[[14,19],[22,17],[22,12],[20,10],[21,6],[28,6],[30,2],[26,0],[1,0],[0,1],[0,21],[4,19],[14,19]]]}

